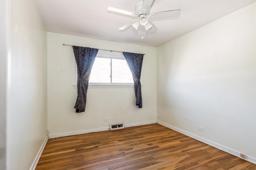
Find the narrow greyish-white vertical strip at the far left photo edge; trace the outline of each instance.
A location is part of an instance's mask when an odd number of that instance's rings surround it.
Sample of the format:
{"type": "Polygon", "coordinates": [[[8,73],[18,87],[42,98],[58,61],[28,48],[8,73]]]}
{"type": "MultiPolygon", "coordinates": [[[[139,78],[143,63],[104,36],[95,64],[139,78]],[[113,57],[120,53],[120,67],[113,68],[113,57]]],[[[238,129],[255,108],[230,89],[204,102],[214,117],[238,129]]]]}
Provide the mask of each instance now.
{"type": "Polygon", "coordinates": [[[0,2],[0,169],[6,164],[6,0],[0,2]]]}

